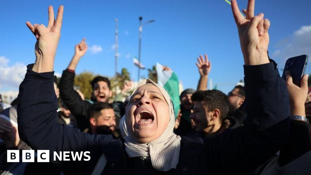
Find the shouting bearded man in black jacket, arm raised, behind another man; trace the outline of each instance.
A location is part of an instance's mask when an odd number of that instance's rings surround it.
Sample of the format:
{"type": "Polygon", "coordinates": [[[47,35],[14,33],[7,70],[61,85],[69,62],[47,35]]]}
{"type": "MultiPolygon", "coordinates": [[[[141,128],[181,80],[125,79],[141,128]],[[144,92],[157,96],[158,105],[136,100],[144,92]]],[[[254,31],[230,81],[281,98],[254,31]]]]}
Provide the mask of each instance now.
{"type": "MultiPolygon", "coordinates": [[[[71,111],[72,115],[76,117],[77,128],[81,131],[90,129],[90,118],[87,113],[91,105],[95,102],[108,102],[109,98],[112,96],[110,81],[108,78],[102,76],[97,76],[91,81],[93,89],[91,100],[82,100],[78,92],[74,90],[75,70],[79,60],[86,53],[87,48],[85,38],[75,46],[75,54],[72,57],[67,69],[63,71],[62,78],[59,83],[62,100],[68,106],[68,109],[71,111]]],[[[116,111],[120,111],[120,109],[117,109],[120,105],[114,106],[116,111]]],[[[119,123],[120,117],[123,114],[119,115],[120,116],[117,116],[116,119],[117,123],[119,123]]]]}

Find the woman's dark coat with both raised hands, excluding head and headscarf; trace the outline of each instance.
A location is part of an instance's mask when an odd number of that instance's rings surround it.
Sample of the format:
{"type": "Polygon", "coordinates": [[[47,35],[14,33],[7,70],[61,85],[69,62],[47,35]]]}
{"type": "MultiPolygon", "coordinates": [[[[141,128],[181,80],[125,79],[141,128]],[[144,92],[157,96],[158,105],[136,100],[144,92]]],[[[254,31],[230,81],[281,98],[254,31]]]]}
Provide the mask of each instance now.
{"type": "MultiPolygon", "coordinates": [[[[237,2],[231,1],[244,55],[248,113],[245,124],[210,139],[183,137],[178,164],[168,174],[247,174],[267,161],[288,139],[288,92],[276,63],[267,57],[270,23],[263,19],[263,14],[254,17],[253,1],[249,0],[248,3],[248,15],[244,18],[237,2]]],[[[145,160],[150,160],[148,158],[129,158],[121,139],[113,140],[111,135],[89,135],[57,124],[53,64],[60,38],[63,6],[59,8],[55,21],[52,11],[53,8],[49,7],[48,27],[26,23],[36,34],[38,43],[35,47],[35,64],[27,66],[18,95],[18,130],[21,139],[33,149],[50,152],[90,151],[89,161],[53,162],[65,173],[91,174],[104,154],[107,162],[97,167],[103,170],[97,172],[99,174],[163,174],[144,164],[145,160]]]]}

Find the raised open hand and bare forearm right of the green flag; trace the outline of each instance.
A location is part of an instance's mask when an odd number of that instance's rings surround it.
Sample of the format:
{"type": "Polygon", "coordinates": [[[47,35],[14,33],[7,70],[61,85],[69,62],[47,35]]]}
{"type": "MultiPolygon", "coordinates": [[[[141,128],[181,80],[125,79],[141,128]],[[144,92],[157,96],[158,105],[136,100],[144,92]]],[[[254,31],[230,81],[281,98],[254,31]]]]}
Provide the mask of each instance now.
{"type": "Polygon", "coordinates": [[[208,81],[208,74],[211,71],[212,64],[208,60],[207,54],[205,54],[205,60],[203,59],[202,55],[200,58],[197,58],[197,68],[199,69],[200,79],[197,84],[197,91],[206,91],[207,90],[207,81],[208,81]]]}

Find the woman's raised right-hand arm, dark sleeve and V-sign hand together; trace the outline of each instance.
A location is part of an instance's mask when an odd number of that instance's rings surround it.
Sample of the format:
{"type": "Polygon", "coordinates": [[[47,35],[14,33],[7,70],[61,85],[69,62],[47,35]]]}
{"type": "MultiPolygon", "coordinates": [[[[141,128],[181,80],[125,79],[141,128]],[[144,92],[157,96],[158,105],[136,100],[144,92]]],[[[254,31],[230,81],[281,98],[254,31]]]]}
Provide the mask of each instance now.
{"type": "Polygon", "coordinates": [[[226,130],[205,140],[211,174],[248,174],[266,162],[289,137],[289,95],[277,64],[267,55],[270,22],[263,14],[254,16],[254,0],[248,0],[244,18],[236,0],[231,1],[244,56],[244,126],[226,130]]]}

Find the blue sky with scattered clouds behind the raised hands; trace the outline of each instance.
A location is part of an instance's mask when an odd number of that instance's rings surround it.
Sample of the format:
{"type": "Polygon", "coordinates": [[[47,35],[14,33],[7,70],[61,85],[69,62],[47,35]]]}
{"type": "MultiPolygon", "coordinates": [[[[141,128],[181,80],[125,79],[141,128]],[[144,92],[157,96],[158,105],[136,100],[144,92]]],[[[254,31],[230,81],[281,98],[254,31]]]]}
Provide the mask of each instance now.
{"type": "MultiPolygon", "coordinates": [[[[247,0],[238,0],[238,4],[240,9],[246,8],[247,0]]],[[[113,76],[114,19],[118,18],[118,70],[127,68],[137,80],[132,58],[138,56],[138,18],[142,16],[143,21],[155,20],[144,26],[142,32],[141,59],[147,68],[156,62],[167,65],[177,73],[184,88],[196,88],[199,79],[196,58],[206,53],[212,63],[209,78],[214,85],[218,84],[219,90],[229,92],[244,77],[237,28],[231,8],[224,0],[1,0],[0,92],[18,91],[25,74],[23,67],[35,61],[35,37],[26,21],[46,25],[49,5],[53,5],[54,11],[64,5],[56,73],[66,69],[74,45],[86,37],[89,48],[95,50],[86,53],[76,72],[88,70],[113,76]]],[[[263,12],[271,21],[269,52],[280,69],[291,56],[311,56],[310,7],[309,0],[256,1],[255,13],[263,12]]],[[[311,73],[310,65],[306,73],[311,73]]],[[[147,71],[142,70],[141,75],[146,77],[147,71]]]]}

